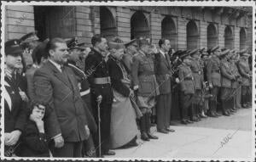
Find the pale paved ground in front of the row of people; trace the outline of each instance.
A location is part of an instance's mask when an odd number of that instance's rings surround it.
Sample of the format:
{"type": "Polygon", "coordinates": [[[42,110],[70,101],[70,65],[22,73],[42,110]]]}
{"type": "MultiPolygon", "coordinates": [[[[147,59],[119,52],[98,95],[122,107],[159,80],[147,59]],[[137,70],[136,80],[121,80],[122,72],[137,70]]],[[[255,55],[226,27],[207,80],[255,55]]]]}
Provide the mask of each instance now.
{"type": "Polygon", "coordinates": [[[158,140],[143,142],[139,139],[137,148],[116,149],[116,155],[108,157],[252,160],[252,109],[240,109],[236,115],[207,118],[192,125],[178,124],[172,128],[176,132],[166,135],[155,132],[153,127],[158,140]]]}

